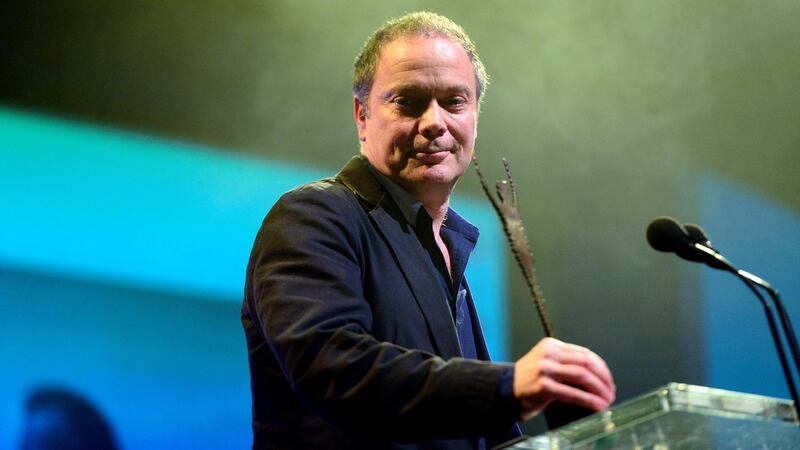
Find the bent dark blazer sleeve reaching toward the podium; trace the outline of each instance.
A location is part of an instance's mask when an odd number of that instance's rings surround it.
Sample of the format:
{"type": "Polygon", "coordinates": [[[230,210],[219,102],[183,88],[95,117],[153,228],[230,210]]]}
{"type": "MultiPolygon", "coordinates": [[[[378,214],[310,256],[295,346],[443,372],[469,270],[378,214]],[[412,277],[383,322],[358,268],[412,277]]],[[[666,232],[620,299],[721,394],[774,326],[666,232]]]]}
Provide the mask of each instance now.
{"type": "Polygon", "coordinates": [[[359,433],[503,435],[517,414],[499,393],[507,364],[445,361],[372,336],[365,214],[344,188],[311,185],[284,195],[259,230],[248,307],[286,380],[307,407],[359,433]]]}

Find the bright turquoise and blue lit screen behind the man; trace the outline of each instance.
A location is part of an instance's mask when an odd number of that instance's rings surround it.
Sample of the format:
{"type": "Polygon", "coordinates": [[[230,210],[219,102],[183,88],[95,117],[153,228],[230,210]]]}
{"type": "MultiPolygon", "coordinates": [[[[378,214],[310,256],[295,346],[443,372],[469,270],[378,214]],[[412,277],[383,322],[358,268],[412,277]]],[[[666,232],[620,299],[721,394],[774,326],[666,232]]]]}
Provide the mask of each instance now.
{"type": "MultiPolygon", "coordinates": [[[[283,192],[328,174],[12,109],[0,136],[0,446],[47,384],[96,402],[125,448],[249,445],[252,241],[283,192]]],[[[482,199],[452,203],[481,229],[466,276],[509,360],[499,222],[482,199]]]]}

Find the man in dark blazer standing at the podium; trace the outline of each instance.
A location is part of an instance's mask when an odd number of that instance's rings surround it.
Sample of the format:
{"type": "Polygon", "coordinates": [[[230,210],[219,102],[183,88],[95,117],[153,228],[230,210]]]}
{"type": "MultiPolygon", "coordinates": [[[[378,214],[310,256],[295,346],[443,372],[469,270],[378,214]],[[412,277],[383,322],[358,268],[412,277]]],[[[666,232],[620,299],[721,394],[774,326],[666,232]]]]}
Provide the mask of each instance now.
{"type": "Polygon", "coordinates": [[[361,155],[275,204],[247,268],[255,448],[485,448],[554,400],[614,399],[605,363],[545,339],[488,362],[449,209],[486,75],[449,19],[413,13],[356,61],[361,155]]]}

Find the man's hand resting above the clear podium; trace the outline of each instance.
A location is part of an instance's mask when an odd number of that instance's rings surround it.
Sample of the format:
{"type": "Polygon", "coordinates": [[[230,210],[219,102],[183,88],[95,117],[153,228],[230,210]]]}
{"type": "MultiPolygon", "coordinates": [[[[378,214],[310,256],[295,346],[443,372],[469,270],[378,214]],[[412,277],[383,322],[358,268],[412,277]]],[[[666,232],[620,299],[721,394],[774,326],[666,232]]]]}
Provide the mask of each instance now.
{"type": "Polygon", "coordinates": [[[553,401],[594,411],[614,402],[616,386],[605,361],[591,350],[544,338],[514,365],[514,397],[528,420],[553,401]]]}

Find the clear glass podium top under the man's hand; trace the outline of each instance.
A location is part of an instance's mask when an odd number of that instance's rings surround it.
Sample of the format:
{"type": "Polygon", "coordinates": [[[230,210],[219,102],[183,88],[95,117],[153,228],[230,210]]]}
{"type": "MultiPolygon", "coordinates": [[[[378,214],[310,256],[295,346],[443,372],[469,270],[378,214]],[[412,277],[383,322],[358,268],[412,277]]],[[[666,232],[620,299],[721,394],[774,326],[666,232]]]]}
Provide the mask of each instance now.
{"type": "Polygon", "coordinates": [[[800,422],[789,400],[670,383],[506,448],[800,449],[800,422]]]}

